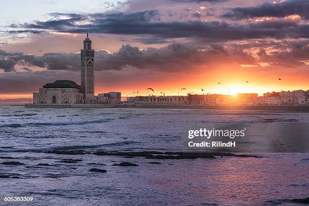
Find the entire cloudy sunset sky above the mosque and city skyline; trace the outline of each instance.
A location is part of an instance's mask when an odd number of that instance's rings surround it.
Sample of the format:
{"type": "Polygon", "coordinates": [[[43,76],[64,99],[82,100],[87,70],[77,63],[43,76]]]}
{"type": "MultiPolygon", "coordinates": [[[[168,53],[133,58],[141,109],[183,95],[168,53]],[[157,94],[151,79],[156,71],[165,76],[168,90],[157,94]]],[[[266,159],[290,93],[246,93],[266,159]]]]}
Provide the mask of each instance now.
{"type": "Polygon", "coordinates": [[[307,0],[6,1],[0,104],[27,102],[47,82],[80,84],[86,32],[95,93],[307,90],[308,11],[307,0]]]}

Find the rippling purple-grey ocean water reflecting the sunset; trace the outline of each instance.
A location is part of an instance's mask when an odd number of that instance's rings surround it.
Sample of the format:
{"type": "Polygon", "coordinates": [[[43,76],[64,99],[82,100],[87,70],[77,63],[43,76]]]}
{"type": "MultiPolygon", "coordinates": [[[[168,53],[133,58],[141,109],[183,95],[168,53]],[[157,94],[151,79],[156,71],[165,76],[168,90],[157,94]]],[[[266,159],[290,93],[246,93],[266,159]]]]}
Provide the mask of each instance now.
{"type": "Polygon", "coordinates": [[[0,106],[0,205],[303,205],[308,153],[259,143],[248,157],[151,159],[183,152],[186,125],[213,122],[308,125],[309,113],[0,106]]]}

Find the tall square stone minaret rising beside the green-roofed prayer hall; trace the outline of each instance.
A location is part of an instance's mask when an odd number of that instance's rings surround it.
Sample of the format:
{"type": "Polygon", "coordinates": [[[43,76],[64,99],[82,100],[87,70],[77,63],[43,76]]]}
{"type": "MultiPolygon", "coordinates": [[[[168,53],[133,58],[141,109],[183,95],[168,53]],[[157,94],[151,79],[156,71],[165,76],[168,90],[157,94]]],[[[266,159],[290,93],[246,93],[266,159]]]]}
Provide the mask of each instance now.
{"type": "Polygon", "coordinates": [[[91,49],[91,40],[87,37],[84,40],[84,49],[80,50],[81,59],[81,91],[84,99],[87,100],[94,96],[94,50],[91,49]]]}

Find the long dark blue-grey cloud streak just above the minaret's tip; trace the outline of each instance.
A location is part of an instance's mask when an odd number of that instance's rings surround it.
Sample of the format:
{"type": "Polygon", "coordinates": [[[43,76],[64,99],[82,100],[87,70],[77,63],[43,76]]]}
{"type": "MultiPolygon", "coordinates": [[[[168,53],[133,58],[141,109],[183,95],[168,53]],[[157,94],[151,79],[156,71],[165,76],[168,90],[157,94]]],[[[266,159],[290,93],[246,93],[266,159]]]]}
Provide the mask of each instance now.
{"type": "MultiPolygon", "coordinates": [[[[54,17],[67,19],[52,19],[45,22],[36,21],[13,25],[15,28],[42,28],[66,33],[108,33],[120,35],[139,35],[147,43],[166,42],[173,38],[192,38],[204,43],[229,40],[260,39],[260,38],[308,38],[309,25],[298,24],[296,21],[265,21],[254,24],[230,24],[227,22],[162,22],[158,10],[135,13],[96,13],[89,15],[53,13],[54,17]],[[80,25],[80,20],[91,23],[80,25]]],[[[199,17],[198,13],[193,13],[199,17]]]]}

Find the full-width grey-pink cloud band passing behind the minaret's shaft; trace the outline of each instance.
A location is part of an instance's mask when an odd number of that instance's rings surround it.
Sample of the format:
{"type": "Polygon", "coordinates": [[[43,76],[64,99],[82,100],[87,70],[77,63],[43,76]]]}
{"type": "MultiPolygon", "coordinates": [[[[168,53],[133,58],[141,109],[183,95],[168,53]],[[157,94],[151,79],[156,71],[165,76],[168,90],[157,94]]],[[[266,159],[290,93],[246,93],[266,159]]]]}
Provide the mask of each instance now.
{"type": "MultiPolygon", "coordinates": [[[[251,27],[254,27],[252,25],[251,27]]],[[[254,30],[254,29],[252,29],[254,30]]],[[[117,52],[109,53],[95,51],[96,71],[119,71],[133,66],[141,70],[177,72],[186,71],[199,65],[210,65],[215,62],[231,62],[236,64],[253,64],[259,62],[286,62],[286,65],[301,65],[309,59],[309,40],[302,41],[258,41],[245,45],[223,46],[221,43],[212,43],[207,47],[192,44],[171,43],[162,48],[146,48],[129,44],[123,45],[117,52]],[[263,53],[266,47],[272,47],[272,53],[263,53]],[[259,60],[243,51],[246,48],[260,48],[259,60]]],[[[7,52],[0,50],[0,68],[4,72],[15,72],[17,66],[21,70],[31,72],[32,67],[41,67],[50,71],[80,71],[79,53],[45,53],[42,56],[26,55],[21,52],[7,52]]]]}

